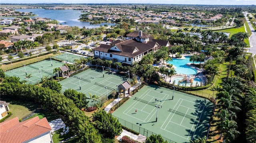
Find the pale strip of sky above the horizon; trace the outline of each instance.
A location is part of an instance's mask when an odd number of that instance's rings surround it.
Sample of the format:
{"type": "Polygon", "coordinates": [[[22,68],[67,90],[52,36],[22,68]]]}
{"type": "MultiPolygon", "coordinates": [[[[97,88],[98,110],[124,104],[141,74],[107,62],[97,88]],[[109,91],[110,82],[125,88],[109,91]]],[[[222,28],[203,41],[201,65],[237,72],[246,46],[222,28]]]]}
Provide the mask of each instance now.
{"type": "Polygon", "coordinates": [[[130,4],[206,4],[256,5],[256,0],[0,0],[1,3],[130,3],[130,4]]]}

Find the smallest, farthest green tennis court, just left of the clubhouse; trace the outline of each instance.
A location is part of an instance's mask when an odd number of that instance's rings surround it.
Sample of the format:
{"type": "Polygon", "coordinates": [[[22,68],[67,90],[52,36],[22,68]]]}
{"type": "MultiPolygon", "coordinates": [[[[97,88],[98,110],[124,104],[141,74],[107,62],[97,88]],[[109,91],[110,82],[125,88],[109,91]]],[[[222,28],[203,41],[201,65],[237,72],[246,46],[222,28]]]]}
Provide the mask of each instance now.
{"type": "Polygon", "coordinates": [[[65,61],[68,63],[74,63],[75,59],[80,59],[81,57],[83,57],[82,55],[78,55],[78,54],[70,54],[68,52],[66,53],[60,53],[60,55],[56,55],[54,57],[52,57],[53,59],[58,59],[61,61],[65,61]]]}

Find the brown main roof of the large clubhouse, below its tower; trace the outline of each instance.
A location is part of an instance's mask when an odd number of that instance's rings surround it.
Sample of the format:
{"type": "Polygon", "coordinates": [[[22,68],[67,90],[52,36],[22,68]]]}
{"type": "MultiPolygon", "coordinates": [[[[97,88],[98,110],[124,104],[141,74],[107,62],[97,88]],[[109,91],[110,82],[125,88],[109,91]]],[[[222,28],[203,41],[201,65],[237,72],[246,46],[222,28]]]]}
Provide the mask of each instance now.
{"type": "Polygon", "coordinates": [[[126,57],[136,57],[150,49],[152,49],[156,45],[156,42],[149,41],[148,43],[140,43],[136,41],[136,39],[129,39],[116,44],[116,47],[120,49],[120,51],[110,50],[112,45],[104,45],[101,44],[99,47],[94,48],[93,50],[112,53],[116,55],[122,55],[126,57]],[[134,52],[134,49],[137,48],[138,51],[134,52]]]}

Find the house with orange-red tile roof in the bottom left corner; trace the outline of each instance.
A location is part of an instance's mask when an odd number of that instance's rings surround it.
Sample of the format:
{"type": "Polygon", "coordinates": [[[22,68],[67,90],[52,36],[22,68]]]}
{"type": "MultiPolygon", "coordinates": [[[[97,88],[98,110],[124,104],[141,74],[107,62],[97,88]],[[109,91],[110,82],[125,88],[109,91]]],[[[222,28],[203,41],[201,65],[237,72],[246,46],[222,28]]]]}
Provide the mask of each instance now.
{"type": "Polygon", "coordinates": [[[0,143],[53,143],[46,118],[19,122],[18,117],[0,123],[0,143]]]}

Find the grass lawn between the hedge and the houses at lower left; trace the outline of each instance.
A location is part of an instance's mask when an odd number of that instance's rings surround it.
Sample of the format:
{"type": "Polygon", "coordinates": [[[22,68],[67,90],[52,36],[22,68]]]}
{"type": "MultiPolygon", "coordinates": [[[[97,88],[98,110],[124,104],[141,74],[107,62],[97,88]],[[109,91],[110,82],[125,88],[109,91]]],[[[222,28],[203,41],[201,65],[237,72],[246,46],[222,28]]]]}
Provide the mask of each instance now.
{"type": "Polygon", "coordinates": [[[34,104],[33,102],[24,102],[22,100],[14,100],[9,98],[3,98],[1,100],[4,100],[6,102],[9,102],[8,105],[10,108],[10,112],[12,115],[8,119],[13,119],[15,117],[18,117],[19,119],[23,119],[30,114],[33,113],[34,110],[40,108],[38,105],[34,104]]]}

